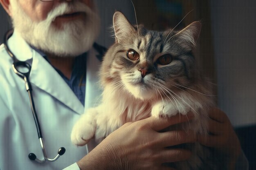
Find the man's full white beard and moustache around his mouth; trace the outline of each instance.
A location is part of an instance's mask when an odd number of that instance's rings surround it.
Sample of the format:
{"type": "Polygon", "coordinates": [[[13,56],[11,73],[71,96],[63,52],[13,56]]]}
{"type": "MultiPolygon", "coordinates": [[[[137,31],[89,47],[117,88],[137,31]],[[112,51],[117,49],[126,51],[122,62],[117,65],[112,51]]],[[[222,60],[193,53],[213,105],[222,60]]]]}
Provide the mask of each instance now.
{"type": "Polygon", "coordinates": [[[63,2],[52,9],[47,18],[35,22],[23,11],[17,0],[10,0],[13,27],[30,45],[60,57],[75,57],[88,51],[99,35],[99,15],[86,4],[63,2]],[[57,29],[55,18],[67,12],[85,12],[86,20],[74,20],[57,29]]]}

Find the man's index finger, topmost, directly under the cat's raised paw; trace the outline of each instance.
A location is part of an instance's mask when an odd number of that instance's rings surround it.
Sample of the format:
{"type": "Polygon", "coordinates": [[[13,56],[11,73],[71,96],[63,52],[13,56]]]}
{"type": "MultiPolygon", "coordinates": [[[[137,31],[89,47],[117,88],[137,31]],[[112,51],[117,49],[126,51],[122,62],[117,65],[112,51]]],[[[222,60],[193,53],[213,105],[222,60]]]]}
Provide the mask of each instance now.
{"type": "Polygon", "coordinates": [[[147,118],[149,126],[155,130],[160,131],[171,125],[183,123],[191,120],[194,117],[193,113],[188,113],[187,115],[177,114],[173,117],[149,117],[147,118]]]}

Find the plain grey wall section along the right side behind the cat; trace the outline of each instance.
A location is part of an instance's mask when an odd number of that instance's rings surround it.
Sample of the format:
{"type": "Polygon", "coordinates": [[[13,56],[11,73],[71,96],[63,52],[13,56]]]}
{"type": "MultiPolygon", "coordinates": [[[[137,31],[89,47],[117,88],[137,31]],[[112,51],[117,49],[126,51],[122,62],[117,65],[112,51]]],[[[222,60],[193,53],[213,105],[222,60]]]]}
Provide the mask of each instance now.
{"type": "Polygon", "coordinates": [[[234,126],[256,124],[256,1],[210,2],[218,106],[234,126]]]}

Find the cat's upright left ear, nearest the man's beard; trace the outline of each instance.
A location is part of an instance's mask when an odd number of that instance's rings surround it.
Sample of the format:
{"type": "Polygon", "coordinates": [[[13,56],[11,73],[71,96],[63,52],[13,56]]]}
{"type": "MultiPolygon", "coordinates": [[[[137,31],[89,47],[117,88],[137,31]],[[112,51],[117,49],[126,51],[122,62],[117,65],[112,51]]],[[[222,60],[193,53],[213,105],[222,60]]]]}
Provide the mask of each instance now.
{"type": "Polygon", "coordinates": [[[115,31],[116,42],[129,38],[132,32],[135,32],[135,28],[130,24],[123,13],[117,11],[113,16],[113,27],[115,31]]]}

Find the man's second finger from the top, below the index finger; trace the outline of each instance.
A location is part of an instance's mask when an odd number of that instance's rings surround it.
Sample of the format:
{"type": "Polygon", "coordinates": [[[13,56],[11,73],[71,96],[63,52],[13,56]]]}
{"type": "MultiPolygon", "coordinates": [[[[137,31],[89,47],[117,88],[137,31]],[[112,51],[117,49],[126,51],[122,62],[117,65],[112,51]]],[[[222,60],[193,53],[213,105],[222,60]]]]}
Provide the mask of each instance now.
{"type": "Polygon", "coordinates": [[[161,146],[167,147],[194,143],[197,137],[193,131],[185,132],[184,130],[174,130],[160,133],[158,139],[161,141],[161,146]]]}

